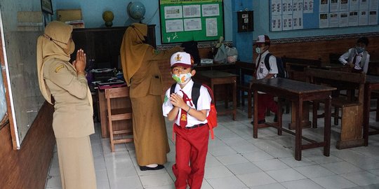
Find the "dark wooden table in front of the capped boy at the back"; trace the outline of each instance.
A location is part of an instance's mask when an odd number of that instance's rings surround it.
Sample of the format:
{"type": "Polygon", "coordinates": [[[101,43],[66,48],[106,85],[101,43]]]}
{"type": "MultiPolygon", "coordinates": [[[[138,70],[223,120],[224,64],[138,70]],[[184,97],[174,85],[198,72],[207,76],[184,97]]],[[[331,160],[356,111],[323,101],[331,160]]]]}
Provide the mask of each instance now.
{"type": "MultiPolygon", "coordinates": [[[[254,92],[254,125],[253,137],[258,138],[258,126],[262,127],[276,127],[278,134],[281,132],[288,132],[295,135],[295,160],[301,160],[301,151],[308,148],[324,147],[324,155],[329,156],[331,146],[331,92],[335,90],[334,87],[326,87],[322,85],[314,85],[305,83],[298,80],[291,80],[286,78],[270,78],[261,80],[252,80],[251,87],[254,92]],[[282,127],[281,116],[278,118],[277,125],[274,124],[260,124],[258,125],[258,91],[266,92],[277,97],[282,97],[291,100],[295,106],[296,122],[295,133],[291,130],[286,130],[282,127]],[[325,118],[324,118],[324,141],[317,142],[312,139],[307,139],[302,136],[302,104],[306,101],[319,100],[325,102],[325,118]],[[310,144],[302,144],[302,139],[309,141],[310,144]]],[[[278,109],[281,115],[281,108],[278,109]]]]}

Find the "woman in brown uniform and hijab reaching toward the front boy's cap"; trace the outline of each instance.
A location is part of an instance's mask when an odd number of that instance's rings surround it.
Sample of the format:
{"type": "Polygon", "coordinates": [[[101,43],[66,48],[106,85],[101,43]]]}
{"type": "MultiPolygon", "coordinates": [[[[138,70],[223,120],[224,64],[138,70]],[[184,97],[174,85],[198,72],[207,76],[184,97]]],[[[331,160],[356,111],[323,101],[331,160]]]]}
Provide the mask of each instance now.
{"type": "Polygon", "coordinates": [[[157,51],[144,43],[147,25],[134,23],[126,29],[121,44],[121,65],[130,86],[135,154],[141,171],[164,168],[170,151],[162,116],[162,80],[158,60],[169,61],[181,48],[157,51]]]}

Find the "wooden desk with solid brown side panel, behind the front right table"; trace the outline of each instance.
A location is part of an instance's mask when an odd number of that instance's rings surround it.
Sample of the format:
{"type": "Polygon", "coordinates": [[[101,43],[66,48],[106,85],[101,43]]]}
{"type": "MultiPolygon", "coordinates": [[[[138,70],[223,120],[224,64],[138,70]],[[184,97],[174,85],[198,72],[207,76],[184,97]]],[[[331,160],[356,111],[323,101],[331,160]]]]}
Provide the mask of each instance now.
{"type": "MultiPolygon", "coordinates": [[[[362,125],[366,74],[312,68],[305,68],[305,73],[310,77],[311,83],[337,87],[338,90],[352,90],[354,94],[357,94],[351,99],[333,94],[331,105],[334,107],[334,113],[332,116],[335,120],[341,119],[340,140],[336,145],[338,149],[363,146],[362,125]],[[340,109],[341,115],[339,115],[340,109]]],[[[317,127],[317,118],[323,117],[323,115],[317,114],[318,104],[317,101],[313,102],[312,121],[314,127],[317,127]]],[[[336,121],[335,123],[338,124],[336,121]]]]}

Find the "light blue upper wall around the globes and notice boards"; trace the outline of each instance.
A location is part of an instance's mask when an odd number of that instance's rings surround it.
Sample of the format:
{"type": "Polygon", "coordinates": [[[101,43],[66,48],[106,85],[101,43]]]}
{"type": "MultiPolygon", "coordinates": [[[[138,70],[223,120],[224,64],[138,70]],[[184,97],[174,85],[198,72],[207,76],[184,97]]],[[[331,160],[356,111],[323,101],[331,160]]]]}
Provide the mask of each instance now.
{"type": "MultiPolygon", "coordinates": [[[[128,18],[126,6],[131,1],[124,0],[53,0],[53,9],[81,8],[86,27],[104,27],[102,12],[112,10],[114,13],[114,26],[130,25],[133,20],[128,18]]],[[[161,45],[161,27],[159,23],[159,1],[140,0],[146,7],[145,20],[142,22],[149,25],[157,25],[157,45],[161,45]]],[[[239,50],[239,59],[244,62],[253,60],[253,41],[261,34],[267,34],[272,39],[302,38],[309,36],[331,36],[342,34],[361,34],[379,31],[379,26],[343,27],[326,29],[301,29],[293,31],[270,31],[270,1],[258,0],[225,0],[225,41],[232,41],[239,50]],[[237,11],[254,11],[254,31],[237,33],[237,11]]],[[[55,15],[54,15],[55,16],[55,15]]],[[[54,19],[53,16],[53,19],[54,19]]],[[[274,53],[274,52],[273,52],[274,53]]]]}

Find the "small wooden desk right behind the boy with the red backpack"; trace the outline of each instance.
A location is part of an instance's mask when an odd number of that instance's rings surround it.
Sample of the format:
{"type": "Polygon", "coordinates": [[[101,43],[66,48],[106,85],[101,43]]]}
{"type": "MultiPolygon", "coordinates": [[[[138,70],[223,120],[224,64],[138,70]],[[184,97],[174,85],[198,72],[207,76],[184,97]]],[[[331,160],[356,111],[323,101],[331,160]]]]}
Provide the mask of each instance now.
{"type": "MultiPolygon", "coordinates": [[[[233,114],[233,120],[236,120],[237,113],[237,76],[233,73],[223,71],[210,70],[210,71],[197,71],[194,80],[206,83],[215,92],[215,85],[232,85],[233,87],[233,109],[227,109],[229,103],[229,95],[225,94],[225,111],[217,111],[218,115],[225,115],[227,113],[233,114]]],[[[226,90],[227,92],[227,90],[226,90]]],[[[216,94],[214,94],[216,96],[216,94]]]]}

